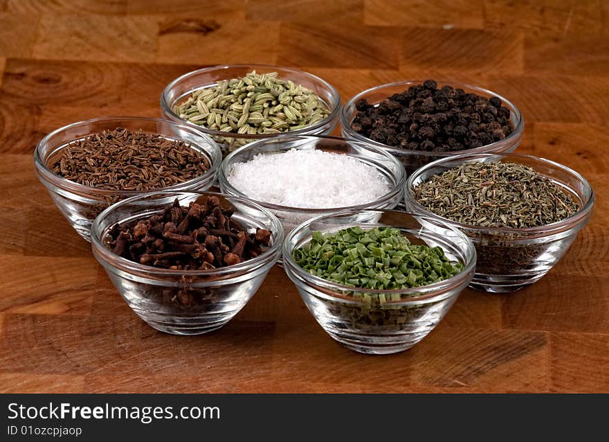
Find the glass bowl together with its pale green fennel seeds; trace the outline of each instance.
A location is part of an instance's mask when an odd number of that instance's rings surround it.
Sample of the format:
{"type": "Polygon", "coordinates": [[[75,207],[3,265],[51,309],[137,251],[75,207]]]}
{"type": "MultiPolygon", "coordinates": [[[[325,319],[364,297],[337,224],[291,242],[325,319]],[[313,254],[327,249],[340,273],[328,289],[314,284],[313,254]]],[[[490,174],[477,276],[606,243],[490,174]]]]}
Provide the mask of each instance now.
{"type": "Polygon", "coordinates": [[[215,66],[186,73],[161,94],[161,114],[214,139],[226,157],[260,139],[327,135],[338,124],[340,96],[311,73],[264,64],[215,66]]]}

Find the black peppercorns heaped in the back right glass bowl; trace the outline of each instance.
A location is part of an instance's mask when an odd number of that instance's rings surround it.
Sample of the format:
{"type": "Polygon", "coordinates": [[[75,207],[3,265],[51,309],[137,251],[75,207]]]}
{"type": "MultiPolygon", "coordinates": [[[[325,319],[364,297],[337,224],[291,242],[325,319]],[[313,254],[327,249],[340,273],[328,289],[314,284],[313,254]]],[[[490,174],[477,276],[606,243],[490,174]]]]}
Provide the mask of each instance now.
{"type": "Polygon", "coordinates": [[[352,128],[374,141],[408,150],[454,152],[504,139],[513,131],[510,110],[498,97],[466,94],[426,80],[382,100],[357,100],[352,128]]]}

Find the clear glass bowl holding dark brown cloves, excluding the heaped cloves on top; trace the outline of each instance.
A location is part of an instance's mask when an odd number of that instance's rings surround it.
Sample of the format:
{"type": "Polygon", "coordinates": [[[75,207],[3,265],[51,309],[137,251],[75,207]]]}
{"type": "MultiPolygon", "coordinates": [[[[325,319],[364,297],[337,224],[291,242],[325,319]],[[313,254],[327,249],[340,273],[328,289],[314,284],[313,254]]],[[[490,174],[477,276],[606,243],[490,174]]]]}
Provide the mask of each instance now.
{"type": "Polygon", "coordinates": [[[91,227],[93,255],[136,315],[149,326],[176,335],[199,335],[217,330],[232,319],[253,297],[269,269],[275,265],[283,241],[283,229],[275,216],[258,204],[212,192],[174,191],[148,193],[114,204],[91,227]],[[221,206],[233,208],[231,220],[249,233],[256,228],[271,231],[270,247],[263,254],[237,265],[211,270],[170,270],[135,263],[113,254],[105,245],[109,229],[161,213],[177,197],[205,204],[219,197],[221,206]]]}

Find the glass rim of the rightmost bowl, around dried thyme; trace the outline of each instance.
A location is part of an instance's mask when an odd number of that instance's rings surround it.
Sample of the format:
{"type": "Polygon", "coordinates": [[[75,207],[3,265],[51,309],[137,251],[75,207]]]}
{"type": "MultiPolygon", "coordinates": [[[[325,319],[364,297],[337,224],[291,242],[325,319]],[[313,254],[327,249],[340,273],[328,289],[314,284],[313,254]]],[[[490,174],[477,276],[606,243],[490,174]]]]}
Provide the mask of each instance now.
{"type": "MultiPolygon", "coordinates": [[[[453,166],[453,167],[456,167],[456,166],[453,166]]],[[[531,166],[531,167],[533,167],[533,166],[531,166]]],[[[537,172],[537,170],[536,170],[536,172],[537,172]]],[[[540,173],[540,172],[538,172],[538,173],[540,173]]],[[[542,174],[542,175],[544,175],[545,177],[549,177],[550,179],[552,178],[545,174],[542,174]]],[[[569,190],[572,193],[575,193],[577,195],[577,193],[574,192],[572,188],[569,187],[569,190]]],[[[588,180],[585,179],[583,177],[583,175],[581,175],[579,172],[576,172],[572,168],[567,167],[561,163],[557,163],[556,161],[552,161],[550,159],[545,159],[543,157],[535,157],[534,155],[513,153],[513,152],[495,152],[495,153],[487,152],[487,153],[476,153],[476,154],[462,154],[462,155],[455,155],[454,157],[440,158],[440,159],[432,161],[432,162],[426,164],[425,166],[422,166],[421,168],[415,170],[415,173],[412,173],[412,175],[410,175],[410,177],[408,177],[408,180],[406,181],[406,187],[404,188],[404,200],[406,201],[406,205],[412,207],[412,209],[417,211],[418,213],[421,213],[422,215],[430,216],[433,218],[439,218],[439,219],[443,220],[444,222],[450,223],[453,226],[457,226],[459,229],[465,229],[468,231],[483,232],[483,233],[484,232],[485,233],[506,232],[506,233],[527,233],[530,235],[534,235],[536,233],[543,233],[543,236],[550,235],[557,230],[564,229],[565,227],[570,227],[571,225],[574,225],[574,224],[579,224],[580,222],[585,220],[586,215],[588,215],[588,213],[590,213],[590,211],[592,210],[592,206],[594,206],[594,199],[595,199],[595,195],[594,195],[594,190],[592,189],[592,186],[590,186],[590,183],[588,182],[588,180]],[[575,177],[577,180],[579,180],[579,182],[581,182],[581,184],[583,185],[585,190],[590,193],[590,197],[588,198],[588,201],[582,202],[581,206],[579,207],[579,210],[576,211],[576,213],[574,213],[573,215],[570,215],[569,217],[567,217],[563,220],[552,222],[550,224],[545,224],[543,226],[538,226],[538,227],[516,228],[516,227],[479,227],[479,226],[474,226],[472,224],[463,224],[461,222],[453,221],[448,218],[444,218],[440,215],[437,215],[436,213],[433,213],[432,211],[429,211],[424,206],[422,206],[417,200],[415,200],[415,198],[412,196],[412,192],[411,192],[412,183],[415,182],[415,179],[419,178],[423,173],[425,173],[430,168],[441,165],[442,163],[448,163],[448,162],[453,162],[453,161],[458,161],[460,164],[463,164],[466,162],[467,159],[475,160],[475,159],[480,159],[480,158],[496,158],[496,157],[508,157],[508,158],[513,158],[513,159],[527,158],[527,159],[534,160],[535,162],[538,162],[538,163],[545,163],[549,166],[554,166],[555,168],[559,168],[559,169],[563,170],[564,172],[566,172],[567,174],[572,175],[572,177],[575,177]]]]}

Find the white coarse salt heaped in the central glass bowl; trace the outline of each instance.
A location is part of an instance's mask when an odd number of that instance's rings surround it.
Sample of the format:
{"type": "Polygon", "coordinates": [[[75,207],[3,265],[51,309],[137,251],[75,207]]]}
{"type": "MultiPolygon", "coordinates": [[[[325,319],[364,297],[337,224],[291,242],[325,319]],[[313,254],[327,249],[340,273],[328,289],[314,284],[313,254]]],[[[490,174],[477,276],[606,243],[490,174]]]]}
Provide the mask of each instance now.
{"type": "Polygon", "coordinates": [[[235,163],[228,181],[253,200],[301,209],[356,206],[390,191],[387,179],[373,166],[322,150],[257,154],[246,163],[235,163]]]}

